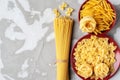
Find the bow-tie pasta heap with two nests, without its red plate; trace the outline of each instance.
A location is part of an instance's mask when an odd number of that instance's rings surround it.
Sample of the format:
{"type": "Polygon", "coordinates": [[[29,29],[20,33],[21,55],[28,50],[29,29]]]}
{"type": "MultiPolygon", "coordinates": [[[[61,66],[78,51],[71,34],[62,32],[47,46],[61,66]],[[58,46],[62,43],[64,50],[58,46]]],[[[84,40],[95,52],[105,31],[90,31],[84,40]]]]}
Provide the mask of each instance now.
{"type": "Polygon", "coordinates": [[[108,38],[92,35],[81,40],[73,54],[77,73],[86,79],[103,79],[114,71],[115,49],[108,38]]]}

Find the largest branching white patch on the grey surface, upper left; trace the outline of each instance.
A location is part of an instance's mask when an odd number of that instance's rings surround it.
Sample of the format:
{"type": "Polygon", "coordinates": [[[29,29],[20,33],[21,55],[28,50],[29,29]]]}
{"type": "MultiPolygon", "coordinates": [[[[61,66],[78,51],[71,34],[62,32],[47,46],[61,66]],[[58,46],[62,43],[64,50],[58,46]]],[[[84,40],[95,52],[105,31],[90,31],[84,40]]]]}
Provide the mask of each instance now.
{"type": "MultiPolygon", "coordinates": [[[[19,0],[23,8],[25,5],[29,5],[26,1],[27,0],[25,0],[25,2],[19,0]]],[[[29,6],[26,8],[27,11],[30,10],[29,8],[29,6]]],[[[23,46],[15,52],[16,54],[26,50],[33,50],[37,46],[38,41],[41,40],[49,30],[49,27],[43,27],[43,24],[51,23],[54,19],[52,9],[47,8],[44,10],[43,15],[39,14],[40,20],[35,20],[33,24],[29,25],[15,0],[0,0],[0,11],[0,20],[7,19],[12,21],[5,31],[5,37],[10,40],[24,40],[23,46]],[[8,10],[9,1],[14,4],[14,8],[8,10]],[[14,31],[16,26],[20,28],[21,32],[14,31]]],[[[31,16],[35,15],[32,13],[32,10],[29,12],[32,14],[31,16]]]]}

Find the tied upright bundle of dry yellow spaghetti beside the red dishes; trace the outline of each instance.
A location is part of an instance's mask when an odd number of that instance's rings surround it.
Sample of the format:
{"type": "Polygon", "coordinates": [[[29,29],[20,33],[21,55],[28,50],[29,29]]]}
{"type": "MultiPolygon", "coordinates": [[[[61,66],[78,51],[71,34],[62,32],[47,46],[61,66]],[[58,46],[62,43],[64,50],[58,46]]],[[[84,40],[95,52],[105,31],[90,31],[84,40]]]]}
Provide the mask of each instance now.
{"type": "Polygon", "coordinates": [[[54,19],[56,42],[57,80],[69,80],[68,60],[73,20],[69,17],[54,19]]]}

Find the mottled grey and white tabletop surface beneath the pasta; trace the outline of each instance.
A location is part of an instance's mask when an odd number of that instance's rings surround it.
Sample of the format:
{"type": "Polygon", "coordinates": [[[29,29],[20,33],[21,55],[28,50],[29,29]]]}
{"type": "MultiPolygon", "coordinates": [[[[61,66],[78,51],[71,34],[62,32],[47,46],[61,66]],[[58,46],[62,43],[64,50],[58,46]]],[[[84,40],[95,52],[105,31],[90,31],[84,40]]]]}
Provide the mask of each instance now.
{"type": "MultiPolygon", "coordinates": [[[[75,9],[72,45],[85,33],[77,12],[85,0],[0,0],[0,80],[56,80],[52,10],[62,2],[75,9]]],[[[108,33],[120,46],[120,0],[117,22],[108,33]]],[[[71,69],[71,80],[80,80],[71,69]]],[[[110,80],[120,79],[120,69],[110,80]]]]}

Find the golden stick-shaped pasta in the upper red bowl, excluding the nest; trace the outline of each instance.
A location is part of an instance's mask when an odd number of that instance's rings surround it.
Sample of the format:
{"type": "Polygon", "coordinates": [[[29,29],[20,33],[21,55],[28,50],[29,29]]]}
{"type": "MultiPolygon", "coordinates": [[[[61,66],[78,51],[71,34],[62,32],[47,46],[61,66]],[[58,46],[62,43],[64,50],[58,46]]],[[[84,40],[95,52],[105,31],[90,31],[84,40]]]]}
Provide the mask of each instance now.
{"type": "MultiPolygon", "coordinates": [[[[96,28],[92,31],[95,34],[109,30],[111,24],[116,18],[116,14],[107,0],[88,0],[82,6],[80,11],[80,20],[86,16],[91,16],[95,19],[96,28]]],[[[85,21],[84,23],[88,23],[88,21],[85,21]]],[[[88,32],[83,29],[82,31],[88,32]]]]}

